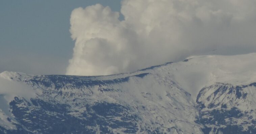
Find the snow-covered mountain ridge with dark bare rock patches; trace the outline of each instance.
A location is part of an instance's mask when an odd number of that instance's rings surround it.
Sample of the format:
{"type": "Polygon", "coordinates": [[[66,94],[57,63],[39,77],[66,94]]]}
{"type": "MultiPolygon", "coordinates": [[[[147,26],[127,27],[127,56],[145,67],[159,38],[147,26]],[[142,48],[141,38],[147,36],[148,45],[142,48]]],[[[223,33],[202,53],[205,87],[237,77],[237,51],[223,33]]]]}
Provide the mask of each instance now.
{"type": "Polygon", "coordinates": [[[109,76],[0,74],[2,134],[256,134],[256,53],[109,76]]]}

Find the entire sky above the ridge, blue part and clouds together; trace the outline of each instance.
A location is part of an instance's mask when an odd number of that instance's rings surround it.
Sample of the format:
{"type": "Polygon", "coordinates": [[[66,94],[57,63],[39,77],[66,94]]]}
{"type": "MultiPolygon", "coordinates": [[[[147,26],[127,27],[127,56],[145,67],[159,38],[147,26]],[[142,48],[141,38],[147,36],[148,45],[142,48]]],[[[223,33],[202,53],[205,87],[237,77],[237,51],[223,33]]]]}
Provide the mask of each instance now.
{"type": "Polygon", "coordinates": [[[0,72],[110,75],[256,52],[255,0],[2,0],[0,10],[0,72]]]}

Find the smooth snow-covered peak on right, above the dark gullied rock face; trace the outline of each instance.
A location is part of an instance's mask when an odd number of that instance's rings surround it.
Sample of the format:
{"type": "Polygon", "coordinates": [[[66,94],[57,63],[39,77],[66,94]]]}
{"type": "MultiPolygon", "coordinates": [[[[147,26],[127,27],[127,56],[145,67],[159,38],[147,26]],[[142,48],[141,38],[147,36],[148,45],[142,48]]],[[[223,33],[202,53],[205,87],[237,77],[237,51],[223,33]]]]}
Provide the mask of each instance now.
{"type": "Polygon", "coordinates": [[[153,72],[170,77],[195,99],[200,89],[217,82],[232,85],[255,82],[256,53],[191,56],[184,61],[154,68],[153,72]]]}

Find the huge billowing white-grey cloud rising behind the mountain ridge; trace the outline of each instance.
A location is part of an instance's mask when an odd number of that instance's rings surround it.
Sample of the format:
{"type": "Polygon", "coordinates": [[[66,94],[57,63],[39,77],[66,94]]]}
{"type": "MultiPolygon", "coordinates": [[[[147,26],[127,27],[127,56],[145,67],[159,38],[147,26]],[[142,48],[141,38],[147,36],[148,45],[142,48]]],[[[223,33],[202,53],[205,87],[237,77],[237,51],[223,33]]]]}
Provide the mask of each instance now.
{"type": "Polygon", "coordinates": [[[123,0],[120,21],[118,12],[100,4],[76,8],[66,74],[131,72],[214,49],[255,52],[255,12],[255,0],[123,0]]]}

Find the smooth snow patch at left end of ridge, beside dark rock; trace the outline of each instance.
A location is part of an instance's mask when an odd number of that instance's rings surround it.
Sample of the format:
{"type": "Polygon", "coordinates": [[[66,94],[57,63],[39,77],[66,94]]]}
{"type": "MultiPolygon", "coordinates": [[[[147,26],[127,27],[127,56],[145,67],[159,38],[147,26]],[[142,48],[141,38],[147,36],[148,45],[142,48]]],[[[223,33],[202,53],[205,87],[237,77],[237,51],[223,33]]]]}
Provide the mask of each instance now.
{"type": "Polygon", "coordinates": [[[14,97],[23,97],[29,101],[40,93],[23,83],[26,76],[23,73],[8,71],[0,74],[0,125],[6,129],[16,129],[15,125],[12,125],[16,120],[9,109],[9,103],[14,100],[14,97]]]}

